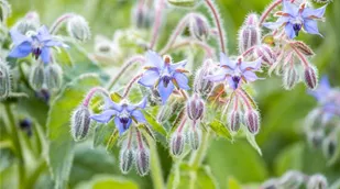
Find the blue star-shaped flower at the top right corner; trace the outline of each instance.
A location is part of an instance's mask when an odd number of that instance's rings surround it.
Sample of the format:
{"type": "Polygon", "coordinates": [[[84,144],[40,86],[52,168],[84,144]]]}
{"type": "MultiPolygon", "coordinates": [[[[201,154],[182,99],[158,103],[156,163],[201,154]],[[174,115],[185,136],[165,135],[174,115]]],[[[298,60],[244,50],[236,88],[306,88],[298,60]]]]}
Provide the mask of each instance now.
{"type": "Polygon", "coordinates": [[[289,38],[298,36],[298,33],[304,29],[307,33],[318,34],[317,20],[321,20],[325,14],[326,5],[319,9],[306,8],[306,4],[300,7],[295,5],[290,1],[283,1],[283,11],[276,14],[281,18],[276,22],[267,22],[263,25],[271,30],[276,30],[281,26],[285,26],[286,35],[289,38]]]}

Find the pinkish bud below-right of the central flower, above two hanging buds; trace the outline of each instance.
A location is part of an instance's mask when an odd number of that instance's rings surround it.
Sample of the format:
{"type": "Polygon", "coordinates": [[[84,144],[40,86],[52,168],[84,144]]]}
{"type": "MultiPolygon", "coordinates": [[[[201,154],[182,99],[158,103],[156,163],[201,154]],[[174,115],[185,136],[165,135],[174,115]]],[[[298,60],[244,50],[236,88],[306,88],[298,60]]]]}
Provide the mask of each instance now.
{"type": "Polygon", "coordinates": [[[190,120],[193,121],[200,120],[204,115],[205,102],[197,93],[195,93],[187,101],[186,110],[187,115],[190,120]]]}

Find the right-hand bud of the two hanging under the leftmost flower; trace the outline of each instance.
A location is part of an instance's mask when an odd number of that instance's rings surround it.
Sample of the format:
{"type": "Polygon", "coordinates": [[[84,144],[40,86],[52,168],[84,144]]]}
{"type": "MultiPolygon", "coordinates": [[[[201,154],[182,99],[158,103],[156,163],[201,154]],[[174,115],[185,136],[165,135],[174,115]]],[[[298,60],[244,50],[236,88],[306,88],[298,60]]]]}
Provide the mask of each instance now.
{"type": "Polygon", "coordinates": [[[48,64],[45,67],[45,81],[50,90],[58,89],[62,86],[63,70],[57,64],[48,64]]]}

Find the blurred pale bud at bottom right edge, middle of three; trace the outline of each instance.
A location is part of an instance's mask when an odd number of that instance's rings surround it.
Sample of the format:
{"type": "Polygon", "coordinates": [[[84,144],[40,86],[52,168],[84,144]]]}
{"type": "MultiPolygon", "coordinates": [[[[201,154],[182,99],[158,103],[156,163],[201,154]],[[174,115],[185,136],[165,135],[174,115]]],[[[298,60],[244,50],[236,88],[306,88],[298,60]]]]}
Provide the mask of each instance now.
{"type": "Polygon", "coordinates": [[[278,188],[298,189],[304,182],[304,175],[296,170],[287,171],[278,180],[278,188]]]}

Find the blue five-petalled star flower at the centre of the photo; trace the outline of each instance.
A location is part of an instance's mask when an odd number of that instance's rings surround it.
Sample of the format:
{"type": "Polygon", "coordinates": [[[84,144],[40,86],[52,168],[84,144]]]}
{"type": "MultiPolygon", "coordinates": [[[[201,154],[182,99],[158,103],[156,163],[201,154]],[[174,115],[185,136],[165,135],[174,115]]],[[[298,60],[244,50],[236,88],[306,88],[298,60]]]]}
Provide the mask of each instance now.
{"type": "Polygon", "coordinates": [[[164,59],[155,52],[149,51],[146,53],[146,66],[144,67],[146,71],[143,73],[139,84],[156,88],[164,104],[168,97],[174,91],[175,87],[177,89],[190,89],[188,86],[188,78],[184,73],[186,60],[179,62],[177,64],[171,63],[171,57],[164,56],[164,59]]]}

